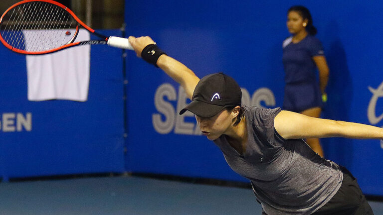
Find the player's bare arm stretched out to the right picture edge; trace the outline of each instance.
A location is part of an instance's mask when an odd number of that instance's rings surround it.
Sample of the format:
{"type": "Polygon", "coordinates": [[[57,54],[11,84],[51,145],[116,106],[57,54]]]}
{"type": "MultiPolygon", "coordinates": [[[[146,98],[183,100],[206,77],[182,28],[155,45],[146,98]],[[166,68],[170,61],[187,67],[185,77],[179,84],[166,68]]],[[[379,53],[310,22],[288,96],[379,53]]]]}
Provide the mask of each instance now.
{"type": "Polygon", "coordinates": [[[383,139],[383,128],[306,116],[282,110],[274,119],[275,130],[285,139],[346,137],[383,139]]]}

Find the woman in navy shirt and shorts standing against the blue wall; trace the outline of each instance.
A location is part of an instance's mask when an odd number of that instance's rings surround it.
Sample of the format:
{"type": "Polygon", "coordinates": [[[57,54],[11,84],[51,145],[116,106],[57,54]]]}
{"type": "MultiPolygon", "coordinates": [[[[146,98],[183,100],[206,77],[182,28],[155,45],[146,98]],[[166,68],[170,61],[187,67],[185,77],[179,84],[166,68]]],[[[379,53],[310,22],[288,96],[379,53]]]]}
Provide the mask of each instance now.
{"type": "MultiPolygon", "coordinates": [[[[304,6],[292,6],[287,12],[287,28],[292,36],[283,41],[285,94],[283,108],[319,118],[322,101],[326,102],[329,67],[322,43],[314,35],[310,11],[304,6]],[[319,71],[319,83],[316,70],[319,71]]],[[[306,139],[307,144],[324,156],[319,139],[306,139]]]]}

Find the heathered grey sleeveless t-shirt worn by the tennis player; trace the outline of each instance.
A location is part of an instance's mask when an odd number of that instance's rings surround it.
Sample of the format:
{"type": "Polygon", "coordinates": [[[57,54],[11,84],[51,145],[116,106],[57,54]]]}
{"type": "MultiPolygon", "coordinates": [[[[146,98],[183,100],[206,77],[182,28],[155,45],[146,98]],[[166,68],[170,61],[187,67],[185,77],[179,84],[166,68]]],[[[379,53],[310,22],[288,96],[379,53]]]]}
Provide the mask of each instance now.
{"type": "Polygon", "coordinates": [[[267,215],[309,215],[336,194],[343,174],[303,139],[283,139],[274,128],[280,111],[245,107],[248,142],[243,155],[229,145],[226,135],[214,143],[231,169],[251,181],[267,215]]]}

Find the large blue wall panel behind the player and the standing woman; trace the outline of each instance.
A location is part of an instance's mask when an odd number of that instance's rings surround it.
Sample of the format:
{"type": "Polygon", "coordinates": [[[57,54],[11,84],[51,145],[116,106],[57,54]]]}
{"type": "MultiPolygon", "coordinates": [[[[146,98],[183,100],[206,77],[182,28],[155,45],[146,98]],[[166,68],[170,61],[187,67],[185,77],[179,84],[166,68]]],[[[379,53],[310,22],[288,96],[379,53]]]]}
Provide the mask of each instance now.
{"type": "MultiPolygon", "coordinates": [[[[382,118],[374,121],[374,117],[383,112],[379,99],[383,94],[374,97],[369,90],[378,89],[383,82],[383,27],[377,24],[383,21],[381,2],[129,1],[125,21],[128,34],[150,35],[199,77],[223,71],[246,89],[250,101],[254,95],[250,104],[273,108],[283,102],[282,41],[289,36],[286,11],[293,4],[304,4],[311,10],[317,37],[325,47],[331,71],[323,117],[382,126],[382,118]]],[[[245,181],[229,169],[212,142],[185,134],[191,132],[195,120],[177,116],[178,107],[186,103],[179,98],[177,83],[134,54],[127,59],[127,169],[245,181]],[[168,111],[156,106],[156,92],[157,102],[165,101],[160,103],[168,111]],[[152,118],[158,114],[162,133],[152,118]]],[[[326,157],[349,168],[366,194],[383,195],[383,186],[377,186],[383,180],[379,141],[328,138],[322,143],[326,157]]]]}

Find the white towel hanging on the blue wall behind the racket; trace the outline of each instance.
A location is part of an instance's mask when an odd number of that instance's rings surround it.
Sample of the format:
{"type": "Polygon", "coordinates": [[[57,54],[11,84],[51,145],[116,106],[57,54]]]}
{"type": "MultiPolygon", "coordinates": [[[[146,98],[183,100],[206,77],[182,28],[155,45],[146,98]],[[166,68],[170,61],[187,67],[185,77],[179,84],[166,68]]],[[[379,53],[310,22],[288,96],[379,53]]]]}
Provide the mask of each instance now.
{"type": "MultiPolygon", "coordinates": [[[[26,45],[28,33],[24,33],[26,45]]],[[[88,31],[81,29],[75,41],[90,39],[88,31]]],[[[47,55],[27,55],[28,100],[88,99],[90,73],[90,45],[68,48],[47,55]]]]}

